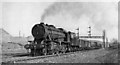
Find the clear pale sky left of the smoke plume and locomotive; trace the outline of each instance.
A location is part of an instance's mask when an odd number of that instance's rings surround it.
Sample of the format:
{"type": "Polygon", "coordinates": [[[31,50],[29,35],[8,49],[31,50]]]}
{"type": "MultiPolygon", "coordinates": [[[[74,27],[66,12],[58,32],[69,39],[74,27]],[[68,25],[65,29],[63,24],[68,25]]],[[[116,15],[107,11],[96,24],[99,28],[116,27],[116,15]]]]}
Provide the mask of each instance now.
{"type": "Polygon", "coordinates": [[[43,10],[50,3],[3,3],[3,28],[11,35],[18,36],[19,31],[25,36],[30,35],[35,23],[40,23],[43,10]]]}

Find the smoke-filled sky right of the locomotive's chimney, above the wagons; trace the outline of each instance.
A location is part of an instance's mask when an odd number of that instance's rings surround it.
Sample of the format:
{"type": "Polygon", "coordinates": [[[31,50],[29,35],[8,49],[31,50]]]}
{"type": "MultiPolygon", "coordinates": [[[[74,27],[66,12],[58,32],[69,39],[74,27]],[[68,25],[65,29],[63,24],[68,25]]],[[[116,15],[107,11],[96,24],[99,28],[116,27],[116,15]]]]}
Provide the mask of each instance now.
{"type": "Polygon", "coordinates": [[[105,29],[107,37],[112,39],[118,36],[117,7],[117,3],[110,2],[55,2],[45,9],[41,21],[68,30],[79,26],[85,32],[86,26],[91,25],[94,33],[105,29]]]}

